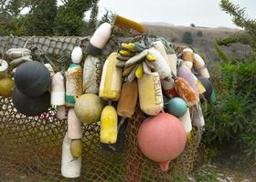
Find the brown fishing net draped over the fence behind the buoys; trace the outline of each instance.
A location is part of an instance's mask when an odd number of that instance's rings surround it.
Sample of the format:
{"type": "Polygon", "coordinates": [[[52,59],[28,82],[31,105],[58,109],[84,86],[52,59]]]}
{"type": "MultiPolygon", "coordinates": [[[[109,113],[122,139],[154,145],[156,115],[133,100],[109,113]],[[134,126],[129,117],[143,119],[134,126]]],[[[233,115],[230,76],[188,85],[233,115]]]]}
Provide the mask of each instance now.
{"type": "MultiPolygon", "coordinates": [[[[126,41],[129,38],[126,38],[126,41]]],[[[103,57],[117,49],[122,38],[112,37],[104,48],[103,57]]],[[[50,63],[55,70],[67,68],[75,45],[83,51],[89,37],[0,37],[0,54],[7,49],[27,47],[34,60],[50,63]]],[[[139,106],[128,119],[123,152],[101,149],[100,124],[83,125],[81,175],[76,179],[61,177],[61,147],[67,131],[67,120],[56,117],[56,108],[36,117],[16,112],[11,98],[0,97],[0,181],[185,181],[202,160],[197,129],[183,154],[171,161],[170,170],[162,172],[157,163],[140,152],[136,136],[144,120],[139,106]]]]}

